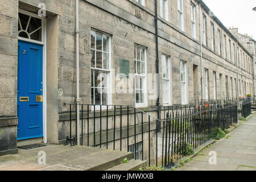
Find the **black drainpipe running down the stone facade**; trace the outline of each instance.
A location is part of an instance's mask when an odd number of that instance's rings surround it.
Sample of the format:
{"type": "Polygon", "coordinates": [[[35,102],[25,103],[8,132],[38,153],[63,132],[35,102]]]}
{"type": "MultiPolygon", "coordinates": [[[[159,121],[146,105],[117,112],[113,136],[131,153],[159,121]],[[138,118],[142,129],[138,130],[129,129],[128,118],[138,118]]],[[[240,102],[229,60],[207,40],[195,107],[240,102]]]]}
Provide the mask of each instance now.
{"type": "Polygon", "coordinates": [[[158,99],[156,101],[156,105],[158,107],[158,119],[160,119],[160,98],[159,98],[159,94],[160,94],[159,78],[160,77],[159,77],[159,53],[158,53],[158,1],[157,0],[155,0],[155,46],[156,46],[156,74],[158,76],[158,79],[157,79],[158,99]]]}

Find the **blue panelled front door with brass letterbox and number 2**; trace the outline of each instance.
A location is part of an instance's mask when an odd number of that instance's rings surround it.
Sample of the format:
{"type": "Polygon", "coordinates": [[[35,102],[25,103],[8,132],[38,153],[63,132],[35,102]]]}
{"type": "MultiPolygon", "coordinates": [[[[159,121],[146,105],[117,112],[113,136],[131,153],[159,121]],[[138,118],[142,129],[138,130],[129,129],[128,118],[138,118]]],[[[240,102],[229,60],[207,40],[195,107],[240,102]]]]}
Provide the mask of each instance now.
{"type": "Polygon", "coordinates": [[[43,46],[18,42],[18,140],[43,137],[43,46]]]}

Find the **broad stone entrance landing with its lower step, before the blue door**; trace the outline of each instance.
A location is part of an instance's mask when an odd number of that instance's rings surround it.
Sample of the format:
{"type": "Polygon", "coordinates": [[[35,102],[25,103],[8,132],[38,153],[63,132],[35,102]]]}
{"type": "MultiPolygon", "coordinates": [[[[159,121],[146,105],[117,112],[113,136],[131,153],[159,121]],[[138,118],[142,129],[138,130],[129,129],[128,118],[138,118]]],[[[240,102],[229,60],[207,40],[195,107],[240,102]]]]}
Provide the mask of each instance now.
{"type": "MultiPolygon", "coordinates": [[[[2,156],[0,171],[104,171],[133,159],[132,152],[104,150],[85,146],[49,145],[19,150],[16,156],[2,156]],[[46,152],[46,165],[38,164],[38,151],[46,152]]],[[[137,160],[127,170],[137,170],[145,161],[137,160]]],[[[132,163],[130,163],[132,164],[132,163]]],[[[124,168],[125,169],[125,168],[124,168]]]]}

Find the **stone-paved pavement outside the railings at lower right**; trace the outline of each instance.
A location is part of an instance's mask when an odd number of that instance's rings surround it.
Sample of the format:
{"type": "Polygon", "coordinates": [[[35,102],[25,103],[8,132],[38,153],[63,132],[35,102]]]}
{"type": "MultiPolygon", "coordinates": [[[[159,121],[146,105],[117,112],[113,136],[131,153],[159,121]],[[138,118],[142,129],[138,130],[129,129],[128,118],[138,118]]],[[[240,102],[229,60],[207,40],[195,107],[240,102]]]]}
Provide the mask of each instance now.
{"type": "Polygon", "coordinates": [[[177,171],[255,171],[256,114],[242,122],[223,140],[200,152],[177,171]],[[217,164],[210,165],[210,151],[216,151],[217,164]]]}

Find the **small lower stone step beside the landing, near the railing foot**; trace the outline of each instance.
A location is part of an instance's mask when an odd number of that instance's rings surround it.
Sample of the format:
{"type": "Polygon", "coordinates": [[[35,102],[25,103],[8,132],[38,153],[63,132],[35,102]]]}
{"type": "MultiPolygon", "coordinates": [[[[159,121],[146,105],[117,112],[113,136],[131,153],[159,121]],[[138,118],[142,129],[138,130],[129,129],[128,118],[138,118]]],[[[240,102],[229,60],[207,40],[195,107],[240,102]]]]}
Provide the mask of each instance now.
{"type": "Polygon", "coordinates": [[[122,163],[112,168],[106,169],[106,171],[138,171],[139,168],[147,166],[146,160],[129,160],[128,163],[122,163]]]}

